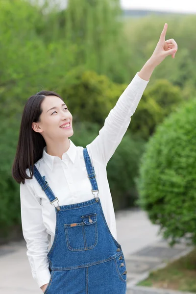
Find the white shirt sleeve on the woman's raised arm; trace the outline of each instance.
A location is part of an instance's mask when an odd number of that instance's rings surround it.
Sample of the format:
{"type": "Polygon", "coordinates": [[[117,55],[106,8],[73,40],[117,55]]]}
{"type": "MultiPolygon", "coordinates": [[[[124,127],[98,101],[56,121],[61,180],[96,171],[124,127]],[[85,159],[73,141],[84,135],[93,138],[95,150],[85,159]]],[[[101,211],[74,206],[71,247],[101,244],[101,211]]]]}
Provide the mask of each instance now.
{"type": "Polygon", "coordinates": [[[87,145],[92,158],[107,165],[131,121],[140,99],[146,89],[148,81],[143,80],[136,73],[130,84],[118,99],[116,105],[110,110],[105,119],[104,126],[99,130],[95,140],[87,145]]]}

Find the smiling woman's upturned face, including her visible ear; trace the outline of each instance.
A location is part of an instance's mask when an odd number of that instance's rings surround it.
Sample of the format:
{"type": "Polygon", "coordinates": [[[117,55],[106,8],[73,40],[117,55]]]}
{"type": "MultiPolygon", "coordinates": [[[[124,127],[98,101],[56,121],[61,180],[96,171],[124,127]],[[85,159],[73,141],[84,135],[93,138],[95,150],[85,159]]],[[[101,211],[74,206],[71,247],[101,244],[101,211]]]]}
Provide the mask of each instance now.
{"type": "Polygon", "coordinates": [[[56,96],[46,96],[42,104],[39,123],[33,123],[34,130],[40,132],[44,139],[63,139],[73,135],[72,114],[64,101],[56,96]]]}

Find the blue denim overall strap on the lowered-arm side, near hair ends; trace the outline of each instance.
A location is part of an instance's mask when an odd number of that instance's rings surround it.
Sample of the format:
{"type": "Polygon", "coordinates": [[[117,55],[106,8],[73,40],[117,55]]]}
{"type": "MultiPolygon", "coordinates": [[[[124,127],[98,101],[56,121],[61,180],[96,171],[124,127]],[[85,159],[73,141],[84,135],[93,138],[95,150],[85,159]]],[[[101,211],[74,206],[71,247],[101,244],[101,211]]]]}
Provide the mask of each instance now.
{"type": "MultiPolygon", "coordinates": [[[[32,171],[32,167],[30,166],[31,171],[32,171]]],[[[35,165],[33,165],[34,171],[33,171],[33,176],[36,178],[36,180],[38,181],[38,183],[40,184],[42,190],[45,192],[46,196],[48,196],[49,201],[52,205],[54,205],[56,207],[57,210],[60,210],[59,208],[59,204],[58,204],[58,198],[55,197],[54,193],[52,192],[52,190],[49,187],[48,182],[45,180],[45,175],[41,176],[40,172],[38,171],[38,169],[36,168],[35,165]]]]}

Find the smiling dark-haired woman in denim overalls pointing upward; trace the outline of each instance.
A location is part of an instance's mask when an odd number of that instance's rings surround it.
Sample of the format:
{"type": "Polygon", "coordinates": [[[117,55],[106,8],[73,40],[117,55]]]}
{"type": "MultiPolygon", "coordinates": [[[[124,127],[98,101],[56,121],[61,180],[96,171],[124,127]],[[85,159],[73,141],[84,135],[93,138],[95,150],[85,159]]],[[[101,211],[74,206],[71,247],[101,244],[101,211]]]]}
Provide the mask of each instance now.
{"type": "Polygon", "coordinates": [[[166,56],[175,56],[177,44],[165,41],[166,31],[167,24],[152,56],[86,148],[69,139],[73,117],[58,94],[41,91],[25,104],[12,175],[21,184],[32,275],[45,294],[126,293],[126,264],[106,166],[154,68],[166,56]]]}

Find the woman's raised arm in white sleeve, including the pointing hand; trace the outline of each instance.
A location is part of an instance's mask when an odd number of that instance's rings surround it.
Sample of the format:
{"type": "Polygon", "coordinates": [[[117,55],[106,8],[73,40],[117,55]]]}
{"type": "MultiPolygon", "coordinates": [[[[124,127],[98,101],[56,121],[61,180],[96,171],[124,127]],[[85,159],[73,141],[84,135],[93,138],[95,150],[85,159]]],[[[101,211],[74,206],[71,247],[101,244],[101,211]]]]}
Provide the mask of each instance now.
{"type": "Polygon", "coordinates": [[[177,44],[173,39],[165,41],[167,27],[168,25],[165,24],[152,56],[124,90],[105,119],[104,126],[100,129],[98,136],[91,144],[87,145],[93,160],[105,166],[107,165],[123,139],[131,121],[131,116],[139,104],[153,70],[166,56],[172,55],[172,58],[174,58],[177,44]]]}

